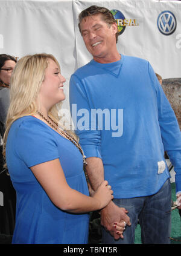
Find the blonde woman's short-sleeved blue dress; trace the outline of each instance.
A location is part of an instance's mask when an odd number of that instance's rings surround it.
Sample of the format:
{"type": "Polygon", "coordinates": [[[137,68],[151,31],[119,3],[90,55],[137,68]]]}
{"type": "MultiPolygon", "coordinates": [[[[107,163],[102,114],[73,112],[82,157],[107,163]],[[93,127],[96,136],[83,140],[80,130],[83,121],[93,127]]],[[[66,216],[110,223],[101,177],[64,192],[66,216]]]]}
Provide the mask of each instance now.
{"type": "Polygon", "coordinates": [[[68,185],[89,195],[77,147],[46,123],[26,116],[11,125],[6,158],[17,194],[13,243],[87,243],[89,214],[71,214],[57,208],[30,169],[59,159],[68,185]]]}

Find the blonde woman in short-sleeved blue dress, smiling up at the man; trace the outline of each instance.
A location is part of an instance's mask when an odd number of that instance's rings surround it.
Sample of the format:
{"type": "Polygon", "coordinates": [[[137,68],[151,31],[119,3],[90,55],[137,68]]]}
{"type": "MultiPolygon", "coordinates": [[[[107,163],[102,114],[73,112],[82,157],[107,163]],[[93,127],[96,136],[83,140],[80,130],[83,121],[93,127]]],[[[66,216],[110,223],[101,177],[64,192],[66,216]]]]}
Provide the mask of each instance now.
{"type": "Polygon", "coordinates": [[[22,57],[11,77],[4,151],[17,194],[13,243],[87,243],[87,212],[113,199],[107,182],[89,196],[80,145],[58,126],[64,83],[49,54],[22,57]]]}

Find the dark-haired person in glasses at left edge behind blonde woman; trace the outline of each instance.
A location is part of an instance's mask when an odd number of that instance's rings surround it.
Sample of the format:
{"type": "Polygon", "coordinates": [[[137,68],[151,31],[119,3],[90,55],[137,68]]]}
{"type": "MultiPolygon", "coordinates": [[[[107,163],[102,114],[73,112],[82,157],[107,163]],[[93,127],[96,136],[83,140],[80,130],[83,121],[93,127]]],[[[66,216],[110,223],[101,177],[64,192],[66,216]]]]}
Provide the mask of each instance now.
{"type": "Polygon", "coordinates": [[[16,59],[7,54],[0,54],[0,240],[10,243],[14,231],[16,192],[11,184],[2,156],[2,138],[5,131],[5,119],[10,103],[10,77],[16,65],[16,59]]]}

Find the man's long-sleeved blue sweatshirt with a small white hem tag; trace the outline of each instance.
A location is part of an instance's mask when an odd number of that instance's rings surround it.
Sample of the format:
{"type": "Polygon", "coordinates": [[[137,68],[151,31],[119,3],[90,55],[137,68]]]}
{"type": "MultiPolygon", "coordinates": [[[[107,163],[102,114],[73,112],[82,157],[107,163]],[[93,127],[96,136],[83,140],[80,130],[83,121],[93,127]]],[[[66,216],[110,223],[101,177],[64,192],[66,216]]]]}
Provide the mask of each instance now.
{"type": "Polygon", "coordinates": [[[181,191],[180,129],[149,62],[124,55],[90,61],[71,77],[70,104],[84,154],[103,160],[115,198],[159,191],[170,177],[164,150],[181,191]]]}

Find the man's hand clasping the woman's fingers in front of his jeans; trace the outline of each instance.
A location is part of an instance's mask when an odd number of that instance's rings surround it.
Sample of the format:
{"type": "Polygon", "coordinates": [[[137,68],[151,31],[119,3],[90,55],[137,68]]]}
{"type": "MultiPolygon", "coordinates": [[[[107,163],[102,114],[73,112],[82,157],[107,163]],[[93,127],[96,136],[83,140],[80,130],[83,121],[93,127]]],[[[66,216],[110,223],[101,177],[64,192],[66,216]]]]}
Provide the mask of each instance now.
{"type": "Polygon", "coordinates": [[[116,234],[116,228],[114,223],[126,222],[127,225],[131,225],[130,217],[127,215],[128,211],[124,208],[119,208],[112,201],[104,209],[101,210],[101,225],[110,232],[110,234],[118,240],[120,237],[124,238],[123,235],[116,234]]]}

